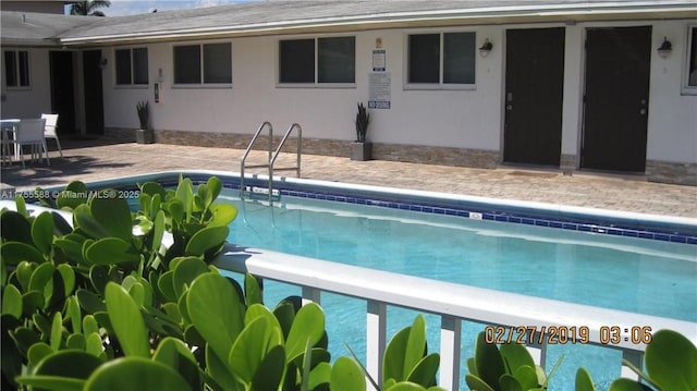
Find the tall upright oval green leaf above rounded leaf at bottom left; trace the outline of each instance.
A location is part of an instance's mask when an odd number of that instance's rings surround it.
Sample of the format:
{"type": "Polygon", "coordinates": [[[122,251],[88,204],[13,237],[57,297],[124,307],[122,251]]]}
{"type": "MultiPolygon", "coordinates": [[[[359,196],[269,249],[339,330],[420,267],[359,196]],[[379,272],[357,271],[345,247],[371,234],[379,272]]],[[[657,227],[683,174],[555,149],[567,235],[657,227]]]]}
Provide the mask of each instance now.
{"type": "Polygon", "coordinates": [[[107,284],[107,310],[126,356],[149,357],[150,346],[140,309],[119,284],[107,284]]]}

